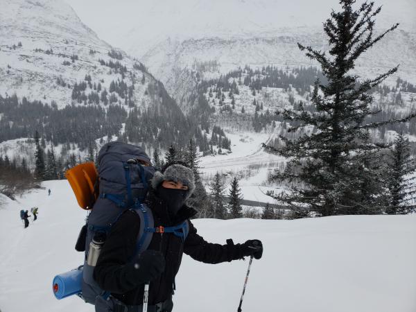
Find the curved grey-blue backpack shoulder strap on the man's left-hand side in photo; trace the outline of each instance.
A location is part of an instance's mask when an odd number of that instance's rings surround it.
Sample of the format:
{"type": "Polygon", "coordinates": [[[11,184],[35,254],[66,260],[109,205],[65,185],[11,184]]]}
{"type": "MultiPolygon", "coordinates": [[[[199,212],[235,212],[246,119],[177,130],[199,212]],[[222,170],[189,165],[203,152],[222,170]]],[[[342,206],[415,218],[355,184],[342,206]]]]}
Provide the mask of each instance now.
{"type": "Polygon", "coordinates": [[[137,234],[137,243],[136,243],[136,254],[144,252],[149,247],[150,241],[153,237],[153,229],[155,225],[155,220],[153,219],[153,213],[148,207],[144,204],[135,205],[132,209],[140,218],[140,229],[139,234],[137,234]]]}

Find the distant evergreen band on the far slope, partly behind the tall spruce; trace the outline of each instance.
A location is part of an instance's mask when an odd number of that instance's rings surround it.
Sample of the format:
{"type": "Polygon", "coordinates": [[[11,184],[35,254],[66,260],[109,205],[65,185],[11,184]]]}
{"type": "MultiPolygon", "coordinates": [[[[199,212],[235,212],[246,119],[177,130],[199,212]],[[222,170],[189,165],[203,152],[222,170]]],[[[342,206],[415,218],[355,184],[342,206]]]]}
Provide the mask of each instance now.
{"type": "MultiPolygon", "coordinates": [[[[234,94],[239,94],[239,88],[244,85],[246,87],[250,87],[253,96],[255,96],[264,87],[274,87],[285,89],[286,92],[295,91],[301,96],[305,96],[306,94],[306,100],[308,100],[309,96],[312,95],[311,87],[315,85],[317,79],[321,85],[327,85],[328,83],[327,78],[323,76],[322,71],[316,67],[286,67],[285,69],[281,69],[273,66],[267,66],[262,67],[261,69],[252,69],[250,66],[246,65],[243,69],[239,68],[234,71],[230,71],[225,75],[221,75],[218,79],[201,80],[198,85],[198,94],[203,95],[208,93],[209,98],[219,98],[220,105],[225,98],[232,98],[233,104],[234,94]]],[[[388,94],[392,94],[392,104],[401,105],[401,92],[410,92],[416,94],[416,87],[415,85],[408,83],[406,80],[397,78],[397,84],[395,87],[389,87],[388,85],[377,85],[376,87],[373,87],[368,93],[374,94],[374,92],[381,94],[381,96],[388,96],[388,94]]],[[[208,109],[206,110],[209,111],[210,109],[207,99],[205,96],[202,97],[203,99],[200,99],[199,103],[203,104],[200,106],[207,105],[208,109]]],[[[291,94],[289,94],[288,101],[291,103],[291,105],[293,105],[294,109],[297,109],[297,107],[302,105],[307,112],[313,112],[313,105],[311,105],[311,103],[307,103],[307,101],[304,101],[304,103],[301,104],[300,101],[295,101],[295,98],[291,94]]],[[[261,130],[265,129],[268,125],[272,125],[274,128],[277,121],[284,121],[283,117],[276,115],[275,112],[270,112],[270,110],[266,110],[266,112],[264,112],[262,104],[255,99],[252,102],[252,105],[256,106],[256,110],[254,116],[252,116],[251,121],[252,129],[255,132],[261,132],[261,130]]],[[[416,107],[416,98],[413,105],[416,107]]],[[[397,107],[392,107],[390,109],[381,106],[382,105],[377,104],[376,107],[374,107],[375,110],[380,110],[381,112],[379,114],[370,116],[367,118],[366,122],[372,123],[382,122],[388,119],[400,119],[404,114],[403,111],[397,110],[397,107]]],[[[410,110],[411,108],[412,107],[410,107],[410,110]]],[[[232,107],[230,107],[230,105],[225,104],[221,106],[221,113],[227,113],[231,111],[232,107]]],[[[243,110],[241,112],[244,113],[243,110]]],[[[286,123],[293,127],[298,125],[297,121],[286,121],[286,123]]],[[[286,125],[284,125],[284,128],[286,128],[286,125]]],[[[385,132],[388,130],[395,130],[396,132],[403,131],[410,135],[416,135],[416,124],[397,123],[382,125],[379,128],[378,133],[382,140],[385,137],[385,132]]]]}

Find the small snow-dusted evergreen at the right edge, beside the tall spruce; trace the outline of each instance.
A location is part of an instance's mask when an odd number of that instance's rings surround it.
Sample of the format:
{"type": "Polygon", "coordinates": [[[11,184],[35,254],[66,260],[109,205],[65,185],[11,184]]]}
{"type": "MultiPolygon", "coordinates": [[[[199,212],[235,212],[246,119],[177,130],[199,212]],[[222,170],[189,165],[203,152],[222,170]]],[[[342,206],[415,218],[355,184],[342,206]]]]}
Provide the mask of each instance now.
{"type": "Polygon", "coordinates": [[[410,156],[409,141],[399,133],[391,150],[387,175],[389,200],[386,213],[408,214],[416,210],[416,161],[410,156]]]}

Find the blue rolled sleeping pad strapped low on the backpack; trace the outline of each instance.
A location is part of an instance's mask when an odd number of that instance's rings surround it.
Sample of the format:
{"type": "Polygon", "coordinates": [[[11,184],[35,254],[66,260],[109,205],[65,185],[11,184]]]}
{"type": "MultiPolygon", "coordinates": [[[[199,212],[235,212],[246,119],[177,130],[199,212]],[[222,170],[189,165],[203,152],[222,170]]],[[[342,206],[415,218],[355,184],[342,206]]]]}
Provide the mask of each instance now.
{"type": "Polygon", "coordinates": [[[56,275],[53,278],[52,290],[56,299],[60,300],[64,297],[81,293],[83,285],[83,266],[79,268],[56,275]]]}

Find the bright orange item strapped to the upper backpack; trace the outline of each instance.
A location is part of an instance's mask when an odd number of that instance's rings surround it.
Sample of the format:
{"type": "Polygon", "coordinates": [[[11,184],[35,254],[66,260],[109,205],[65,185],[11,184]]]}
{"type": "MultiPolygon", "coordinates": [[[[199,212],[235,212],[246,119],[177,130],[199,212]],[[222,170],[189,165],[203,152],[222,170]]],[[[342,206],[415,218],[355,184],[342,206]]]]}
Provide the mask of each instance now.
{"type": "Polygon", "coordinates": [[[94,186],[98,179],[98,173],[94,162],[78,164],[69,169],[65,173],[65,177],[67,177],[72,191],[75,193],[78,205],[86,210],[92,209],[92,206],[97,199],[97,193],[94,186]]]}

